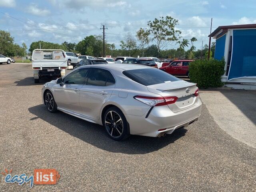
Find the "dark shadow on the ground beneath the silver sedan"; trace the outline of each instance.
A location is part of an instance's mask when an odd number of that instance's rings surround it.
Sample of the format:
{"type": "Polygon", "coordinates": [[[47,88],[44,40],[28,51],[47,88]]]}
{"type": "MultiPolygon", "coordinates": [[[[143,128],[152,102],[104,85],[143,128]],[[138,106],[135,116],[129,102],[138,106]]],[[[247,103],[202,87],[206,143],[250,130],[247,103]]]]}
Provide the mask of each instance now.
{"type": "MultiPolygon", "coordinates": [[[[31,107],[28,110],[38,118],[67,132],[71,136],[79,138],[102,150],[115,153],[146,154],[154,152],[175,142],[184,136],[187,131],[181,128],[173,134],[167,134],[161,138],[131,135],[128,139],[118,142],[108,137],[103,126],[87,122],[63,112],[50,113],[43,104],[31,107]]],[[[30,120],[34,119],[36,118],[30,120]]]]}

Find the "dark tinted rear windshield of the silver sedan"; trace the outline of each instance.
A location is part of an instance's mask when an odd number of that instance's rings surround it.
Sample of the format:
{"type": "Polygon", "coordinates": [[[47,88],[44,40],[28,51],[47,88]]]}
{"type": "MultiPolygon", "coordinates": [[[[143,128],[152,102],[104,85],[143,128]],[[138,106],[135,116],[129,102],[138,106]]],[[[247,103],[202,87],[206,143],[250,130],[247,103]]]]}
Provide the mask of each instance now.
{"type": "Polygon", "coordinates": [[[127,70],[123,71],[123,74],[145,86],[180,80],[179,78],[155,68],[127,70]]]}

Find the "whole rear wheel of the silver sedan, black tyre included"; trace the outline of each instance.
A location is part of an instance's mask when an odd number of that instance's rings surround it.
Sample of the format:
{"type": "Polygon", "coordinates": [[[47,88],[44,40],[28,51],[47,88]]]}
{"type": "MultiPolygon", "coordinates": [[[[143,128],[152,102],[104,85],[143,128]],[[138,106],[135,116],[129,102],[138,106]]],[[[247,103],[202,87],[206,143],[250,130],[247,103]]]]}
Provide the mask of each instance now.
{"type": "Polygon", "coordinates": [[[106,110],[102,123],[108,136],[113,140],[120,141],[130,136],[126,118],[117,107],[110,107],[106,110]]]}

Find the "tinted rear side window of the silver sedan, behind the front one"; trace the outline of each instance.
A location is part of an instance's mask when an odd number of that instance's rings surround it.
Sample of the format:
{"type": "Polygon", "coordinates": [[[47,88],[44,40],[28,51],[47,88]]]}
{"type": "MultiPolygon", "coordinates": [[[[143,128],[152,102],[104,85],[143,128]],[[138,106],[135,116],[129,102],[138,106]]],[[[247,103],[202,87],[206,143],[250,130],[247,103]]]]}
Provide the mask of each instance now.
{"type": "Polygon", "coordinates": [[[114,84],[114,77],[108,70],[92,68],[88,76],[87,85],[108,86],[114,84]]]}

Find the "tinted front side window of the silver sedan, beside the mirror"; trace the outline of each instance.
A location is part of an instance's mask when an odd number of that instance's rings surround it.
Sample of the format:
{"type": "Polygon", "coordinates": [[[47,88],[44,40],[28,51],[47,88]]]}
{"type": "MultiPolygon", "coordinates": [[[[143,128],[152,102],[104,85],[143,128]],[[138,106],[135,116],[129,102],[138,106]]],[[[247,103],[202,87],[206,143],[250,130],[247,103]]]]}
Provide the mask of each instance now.
{"type": "Polygon", "coordinates": [[[83,69],[78,69],[75,70],[74,72],[71,72],[68,74],[63,82],[65,84],[79,84],[82,85],[84,84],[85,76],[86,73],[88,72],[88,68],[83,68],[83,69]]]}

